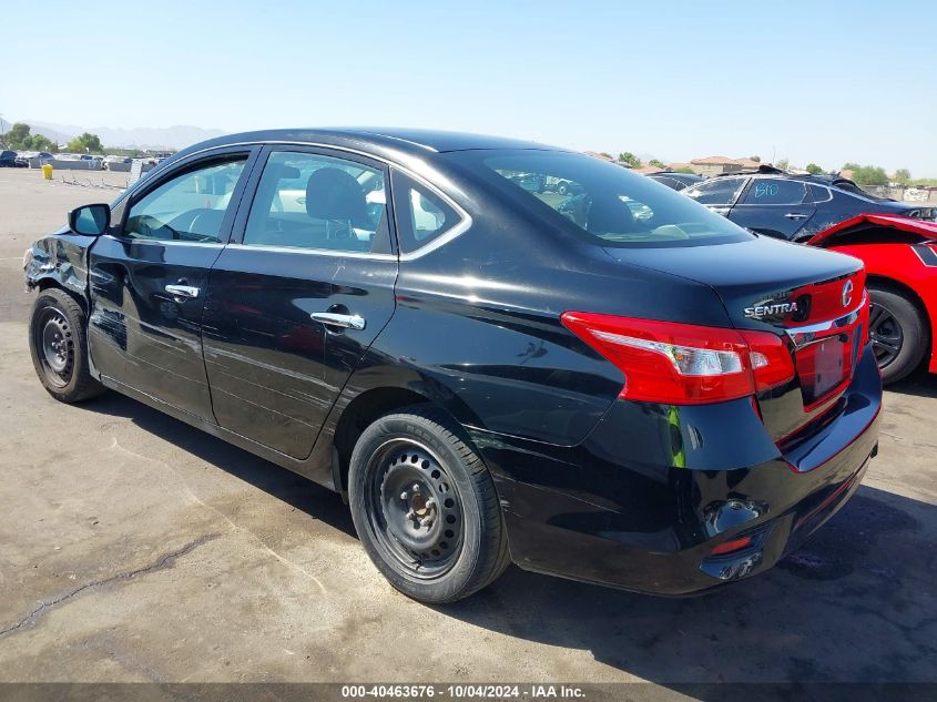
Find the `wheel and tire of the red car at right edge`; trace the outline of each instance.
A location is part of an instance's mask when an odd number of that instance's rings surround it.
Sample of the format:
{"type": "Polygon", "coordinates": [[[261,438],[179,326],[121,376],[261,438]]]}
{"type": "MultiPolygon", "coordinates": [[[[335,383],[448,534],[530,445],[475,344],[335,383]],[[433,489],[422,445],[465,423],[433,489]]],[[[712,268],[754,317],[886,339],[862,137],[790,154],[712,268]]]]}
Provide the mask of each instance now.
{"type": "Polygon", "coordinates": [[[927,352],[927,322],[918,306],[900,293],[876,285],[869,311],[869,340],[882,381],[897,383],[920,365],[927,352]]]}

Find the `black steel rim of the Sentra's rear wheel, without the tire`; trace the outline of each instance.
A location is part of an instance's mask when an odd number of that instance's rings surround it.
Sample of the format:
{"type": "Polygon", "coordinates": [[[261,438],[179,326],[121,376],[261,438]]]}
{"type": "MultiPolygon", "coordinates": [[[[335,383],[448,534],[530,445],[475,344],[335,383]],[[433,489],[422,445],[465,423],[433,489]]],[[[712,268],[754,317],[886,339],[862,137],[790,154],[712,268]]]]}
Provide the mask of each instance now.
{"type": "Polygon", "coordinates": [[[462,508],[455,481],[426,446],[384,444],[368,465],[369,527],[385,558],[414,578],[448,572],[462,545],[462,508]]]}

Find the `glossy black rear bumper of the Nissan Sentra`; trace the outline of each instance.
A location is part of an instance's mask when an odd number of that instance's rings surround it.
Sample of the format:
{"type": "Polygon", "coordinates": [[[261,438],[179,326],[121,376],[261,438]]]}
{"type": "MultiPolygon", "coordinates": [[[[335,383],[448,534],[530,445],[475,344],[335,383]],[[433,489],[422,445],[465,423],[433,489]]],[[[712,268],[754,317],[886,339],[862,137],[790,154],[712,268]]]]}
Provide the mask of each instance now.
{"type": "Polygon", "coordinates": [[[853,496],[878,440],[870,352],[835,420],[782,451],[748,400],[619,401],[579,447],[475,437],[521,568],[683,596],[767,570],[853,496]],[[748,536],[751,546],[713,557],[748,536]]]}

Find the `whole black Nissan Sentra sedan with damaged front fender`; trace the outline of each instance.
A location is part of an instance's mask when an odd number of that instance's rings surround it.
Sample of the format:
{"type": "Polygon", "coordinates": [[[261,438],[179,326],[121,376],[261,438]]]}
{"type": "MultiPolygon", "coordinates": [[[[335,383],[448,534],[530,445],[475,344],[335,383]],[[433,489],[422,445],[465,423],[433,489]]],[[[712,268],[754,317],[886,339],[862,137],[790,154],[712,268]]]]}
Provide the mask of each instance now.
{"type": "Polygon", "coordinates": [[[223,136],[24,268],[52,397],[112,388],[339,491],[427,602],[510,560],[665,594],[762,572],[877,449],[860,262],[529,142],[223,136]]]}

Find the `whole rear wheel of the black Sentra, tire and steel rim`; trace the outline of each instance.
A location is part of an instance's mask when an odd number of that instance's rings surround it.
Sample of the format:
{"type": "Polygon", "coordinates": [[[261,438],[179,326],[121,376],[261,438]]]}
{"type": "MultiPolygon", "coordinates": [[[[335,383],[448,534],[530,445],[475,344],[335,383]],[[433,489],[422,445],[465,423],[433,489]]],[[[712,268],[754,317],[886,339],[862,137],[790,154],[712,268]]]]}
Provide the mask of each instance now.
{"type": "Polygon", "coordinates": [[[368,557],[415,600],[455,602],[510,563],[491,476],[444,413],[415,406],[375,420],[352,452],[348,494],[368,557]]]}

